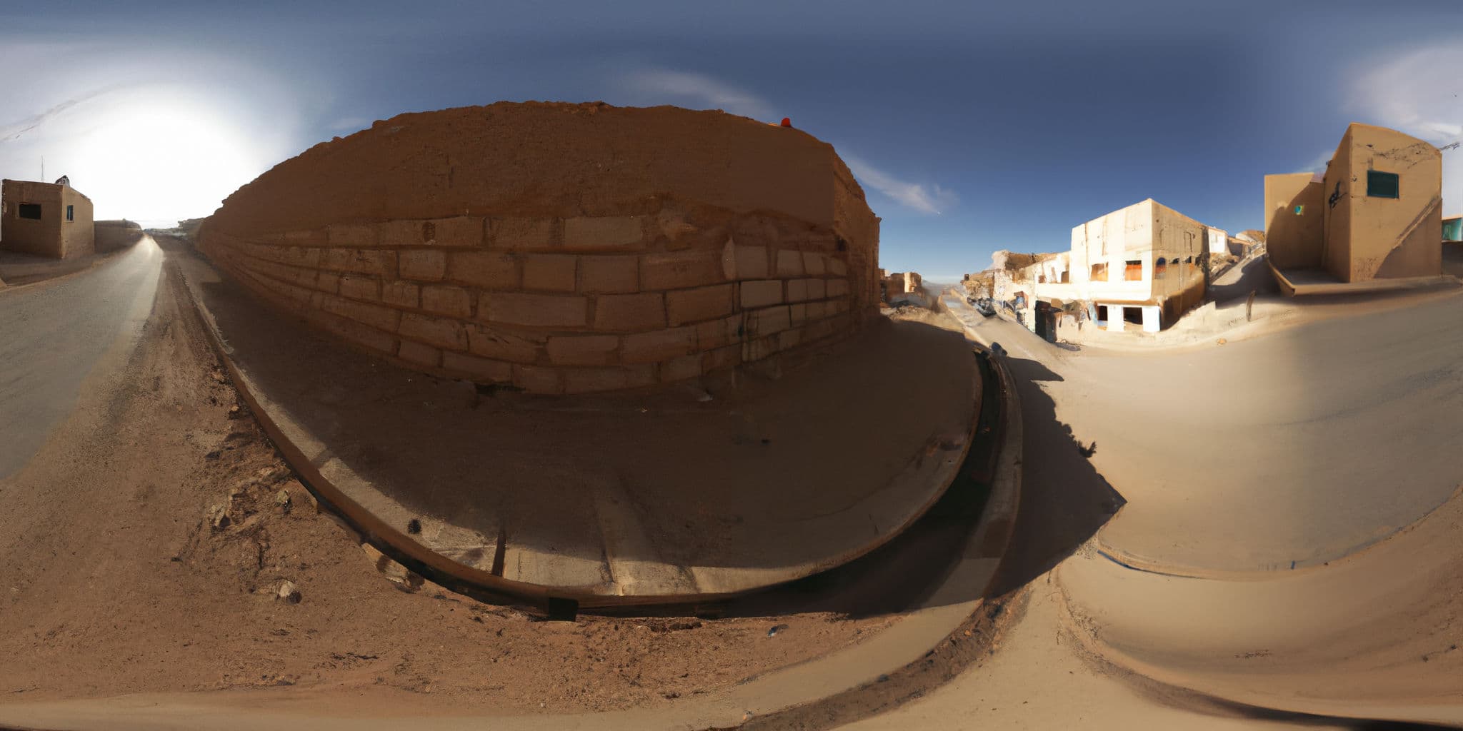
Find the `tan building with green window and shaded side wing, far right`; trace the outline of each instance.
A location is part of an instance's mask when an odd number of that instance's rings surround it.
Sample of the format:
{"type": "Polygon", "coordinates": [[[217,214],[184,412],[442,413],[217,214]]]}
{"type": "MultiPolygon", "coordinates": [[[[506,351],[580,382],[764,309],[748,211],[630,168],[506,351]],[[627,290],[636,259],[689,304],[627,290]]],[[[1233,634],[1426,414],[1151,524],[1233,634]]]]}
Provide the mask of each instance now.
{"type": "Polygon", "coordinates": [[[1443,272],[1443,154],[1353,123],[1325,173],[1265,175],[1265,246],[1287,291],[1443,272]]]}

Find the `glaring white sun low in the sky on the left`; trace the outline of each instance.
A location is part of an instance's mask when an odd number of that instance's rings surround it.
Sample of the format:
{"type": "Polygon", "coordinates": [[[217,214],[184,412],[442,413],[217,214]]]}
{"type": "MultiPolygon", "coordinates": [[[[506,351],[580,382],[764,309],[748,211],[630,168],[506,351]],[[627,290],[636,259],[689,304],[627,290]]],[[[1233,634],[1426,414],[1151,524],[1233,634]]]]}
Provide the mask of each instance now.
{"type": "Polygon", "coordinates": [[[78,132],[50,177],[67,174],[98,219],[205,216],[272,162],[221,113],[187,101],[123,102],[78,132]]]}

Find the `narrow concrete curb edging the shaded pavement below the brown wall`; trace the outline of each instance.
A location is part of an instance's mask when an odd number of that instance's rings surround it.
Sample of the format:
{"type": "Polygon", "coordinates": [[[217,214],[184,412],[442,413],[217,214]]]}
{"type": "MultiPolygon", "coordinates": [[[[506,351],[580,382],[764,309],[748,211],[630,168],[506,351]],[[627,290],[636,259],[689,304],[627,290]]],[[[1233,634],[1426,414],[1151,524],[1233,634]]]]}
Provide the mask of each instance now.
{"type": "MultiPolygon", "coordinates": [[[[219,279],[227,276],[202,259],[199,259],[196,265],[206,268],[212,276],[218,276],[219,279]]],[[[241,398],[265,428],[265,433],[285,456],[287,462],[290,462],[290,465],[296,469],[301,482],[312,491],[312,494],[315,494],[315,497],[332,513],[339,515],[353,529],[360,532],[382,553],[391,556],[436,583],[452,589],[464,589],[465,594],[478,591],[480,594],[487,592],[494,596],[509,596],[538,605],[544,605],[552,599],[572,599],[582,608],[688,605],[715,602],[737,595],[764,591],[843,566],[875,551],[894,537],[904,532],[945,494],[969,455],[969,449],[974,440],[974,431],[980,421],[980,409],[976,408],[970,417],[964,443],[958,446],[958,453],[951,453],[948,459],[916,461],[913,471],[906,469],[906,472],[901,472],[891,480],[890,485],[907,480],[930,480],[938,484],[939,488],[933,491],[923,504],[917,504],[903,513],[895,513],[900,519],[898,525],[878,535],[873,541],[863,544],[859,550],[844,551],[843,554],[832,556],[812,564],[800,564],[777,570],[727,570],[723,572],[721,576],[715,577],[718,579],[717,582],[710,583],[714,586],[711,591],[704,589],[704,586],[708,586],[707,580],[698,582],[698,588],[702,588],[702,591],[696,594],[619,595],[585,592],[572,586],[524,583],[505,579],[477,566],[459,563],[458,560],[435,550],[432,545],[423,544],[420,538],[432,534],[432,531],[429,531],[430,526],[427,526],[427,520],[421,520],[421,535],[408,537],[396,528],[398,525],[407,525],[404,518],[399,520],[388,520],[380,515],[380,510],[369,510],[360,500],[354,499],[353,494],[361,494],[366,490],[375,488],[364,482],[364,480],[350,469],[348,465],[335,458],[322,440],[316,439],[300,424],[294,423],[285,409],[272,404],[269,398],[256,387],[247,371],[233,358],[233,352],[219,332],[214,314],[206,308],[199,292],[193,289],[196,284],[187,282],[187,276],[183,275],[181,268],[174,266],[173,269],[183,278],[184,291],[189,292],[189,298],[192,300],[195,310],[203,320],[203,330],[208,333],[209,342],[233,379],[234,386],[238,389],[241,398]],[[345,481],[347,485],[342,485],[341,481],[345,481]]],[[[976,370],[973,377],[976,379],[977,386],[980,386],[982,376],[979,370],[976,370]]],[[[878,499],[887,491],[888,488],[875,494],[873,499],[878,499]]],[[[850,510],[860,509],[860,506],[853,506],[850,510]]],[[[404,509],[398,512],[404,512],[404,509]]],[[[442,532],[446,532],[449,528],[449,525],[443,523],[442,532]]]]}

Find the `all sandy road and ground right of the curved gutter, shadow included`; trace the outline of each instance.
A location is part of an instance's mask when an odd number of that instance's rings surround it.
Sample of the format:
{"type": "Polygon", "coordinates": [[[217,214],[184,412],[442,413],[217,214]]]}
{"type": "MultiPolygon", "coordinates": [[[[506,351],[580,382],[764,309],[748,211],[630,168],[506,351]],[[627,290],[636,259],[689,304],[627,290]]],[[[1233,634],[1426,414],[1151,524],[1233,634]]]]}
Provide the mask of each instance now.
{"type": "Polygon", "coordinates": [[[961,314],[1026,380],[1004,577],[1026,611],[986,662],[854,728],[1463,724],[1463,468],[1428,442],[1457,423],[1457,300],[1198,354],[1068,351],[961,314]],[[1260,570],[1308,541],[1333,558],[1260,570]]]}

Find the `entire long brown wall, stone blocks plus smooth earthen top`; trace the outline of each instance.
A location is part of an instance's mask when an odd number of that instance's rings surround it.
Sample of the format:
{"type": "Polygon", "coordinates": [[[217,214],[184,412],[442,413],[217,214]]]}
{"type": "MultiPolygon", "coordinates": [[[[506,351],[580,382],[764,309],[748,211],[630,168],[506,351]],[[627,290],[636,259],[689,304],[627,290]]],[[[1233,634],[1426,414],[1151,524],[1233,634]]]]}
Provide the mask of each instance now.
{"type": "Polygon", "coordinates": [[[878,303],[878,218],[831,146],[664,107],[396,117],[240,189],[199,246],[357,346],[537,393],[730,368],[878,303]]]}

